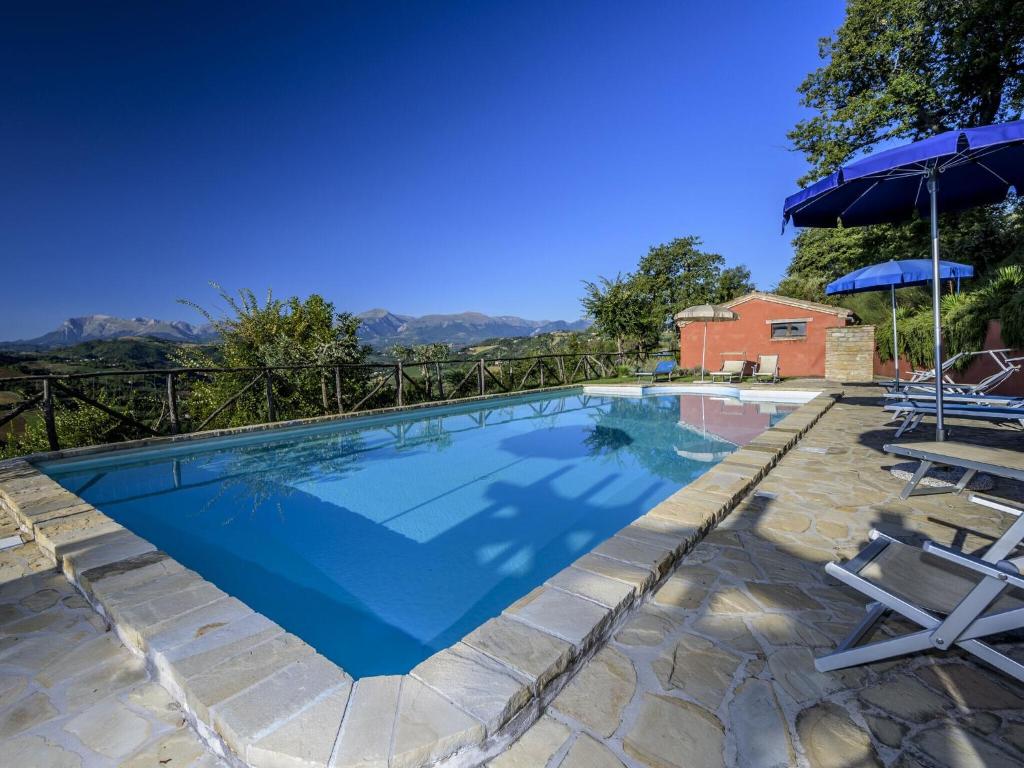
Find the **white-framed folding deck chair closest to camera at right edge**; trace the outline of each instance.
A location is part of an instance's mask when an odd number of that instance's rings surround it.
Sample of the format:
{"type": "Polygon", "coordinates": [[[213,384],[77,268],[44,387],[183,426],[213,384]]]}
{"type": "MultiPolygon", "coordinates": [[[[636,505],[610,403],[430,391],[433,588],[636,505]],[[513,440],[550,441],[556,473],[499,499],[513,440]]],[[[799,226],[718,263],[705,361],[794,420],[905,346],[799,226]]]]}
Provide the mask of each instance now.
{"type": "Polygon", "coordinates": [[[971,501],[1017,518],[982,557],[934,542],[919,549],[872,530],[860,554],[825,566],[872,602],[839,647],[814,662],[818,672],[957,646],[1024,682],[1024,665],[983,641],[1024,628],[1024,557],[1007,559],[1024,540],[1024,507],[991,497],[971,501]],[[891,610],[922,629],[858,645],[891,610]]]}

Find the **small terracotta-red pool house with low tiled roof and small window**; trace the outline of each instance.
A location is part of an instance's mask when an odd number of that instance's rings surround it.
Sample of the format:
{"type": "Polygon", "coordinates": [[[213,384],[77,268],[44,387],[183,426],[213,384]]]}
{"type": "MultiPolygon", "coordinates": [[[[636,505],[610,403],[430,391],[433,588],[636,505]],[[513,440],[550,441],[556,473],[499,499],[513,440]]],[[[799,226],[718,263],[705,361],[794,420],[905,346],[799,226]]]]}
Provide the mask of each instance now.
{"type": "MultiPolygon", "coordinates": [[[[825,375],[825,329],[851,325],[853,312],[814,301],[791,299],[755,291],[722,306],[738,315],[735,321],[708,324],[705,367],[719,371],[725,360],[743,359],[750,374],[758,355],[777,354],[779,375],[825,375]]],[[[681,322],[679,366],[700,366],[705,324],[681,322]]]]}

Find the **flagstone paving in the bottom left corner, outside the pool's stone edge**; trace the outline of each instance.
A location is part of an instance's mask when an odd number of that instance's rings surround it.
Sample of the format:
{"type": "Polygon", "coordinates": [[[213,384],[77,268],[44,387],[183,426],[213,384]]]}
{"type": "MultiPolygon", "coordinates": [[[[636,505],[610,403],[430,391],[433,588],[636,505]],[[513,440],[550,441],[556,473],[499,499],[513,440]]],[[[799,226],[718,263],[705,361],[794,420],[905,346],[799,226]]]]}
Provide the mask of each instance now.
{"type": "Polygon", "coordinates": [[[224,766],[33,543],[0,551],[0,764],[224,766]]]}

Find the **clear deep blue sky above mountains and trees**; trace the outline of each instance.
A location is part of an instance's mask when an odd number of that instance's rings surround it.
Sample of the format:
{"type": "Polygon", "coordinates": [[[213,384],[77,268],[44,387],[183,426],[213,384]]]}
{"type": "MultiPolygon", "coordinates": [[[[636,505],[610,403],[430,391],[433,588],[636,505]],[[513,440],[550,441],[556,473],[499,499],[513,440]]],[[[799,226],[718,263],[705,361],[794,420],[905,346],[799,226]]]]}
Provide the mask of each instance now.
{"type": "Polygon", "coordinates": [[[0,339],[207,286],[580,315],[698,234],[770,288],[838,0],[8,4],[0,339]]]}

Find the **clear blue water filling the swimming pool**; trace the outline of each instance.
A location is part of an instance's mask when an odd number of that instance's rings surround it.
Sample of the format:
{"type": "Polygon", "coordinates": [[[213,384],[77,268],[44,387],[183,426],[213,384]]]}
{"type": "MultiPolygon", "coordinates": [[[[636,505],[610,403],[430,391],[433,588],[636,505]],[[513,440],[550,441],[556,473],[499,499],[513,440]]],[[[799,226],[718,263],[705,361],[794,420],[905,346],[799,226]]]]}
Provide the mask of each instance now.
{"type": "Polygon", "coordinates": [[[573,392],[41,468],[353,677],[401,674],[792,408],[573,392]]]}

